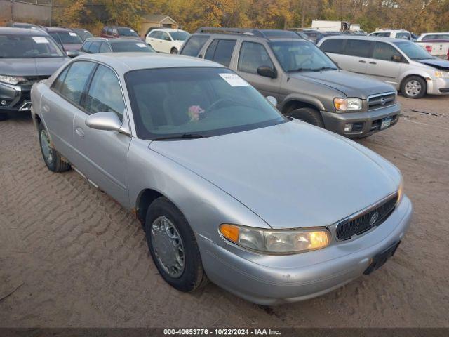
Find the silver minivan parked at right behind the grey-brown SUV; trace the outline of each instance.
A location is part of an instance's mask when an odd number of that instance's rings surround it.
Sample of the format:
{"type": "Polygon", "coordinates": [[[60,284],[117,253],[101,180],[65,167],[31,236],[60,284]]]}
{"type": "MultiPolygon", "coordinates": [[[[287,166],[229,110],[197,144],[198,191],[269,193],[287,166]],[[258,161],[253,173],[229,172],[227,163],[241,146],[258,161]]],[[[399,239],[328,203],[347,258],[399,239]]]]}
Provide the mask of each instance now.
{"type": "Polygon", "coordinates": [[[342,69],[395,86],[407,98],[449,93],[449,61],[403,39],[327,37],[318,46],[342,69]]]}

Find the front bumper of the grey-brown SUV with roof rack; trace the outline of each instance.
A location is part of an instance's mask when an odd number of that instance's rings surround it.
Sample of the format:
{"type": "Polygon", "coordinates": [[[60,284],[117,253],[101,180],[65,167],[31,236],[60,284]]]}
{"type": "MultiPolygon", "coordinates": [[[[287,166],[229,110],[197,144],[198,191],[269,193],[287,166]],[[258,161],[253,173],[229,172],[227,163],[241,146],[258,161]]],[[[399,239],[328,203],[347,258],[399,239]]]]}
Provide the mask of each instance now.
{"type": "Polygon", "coordinates": [[[370,134],[380,131],[380,124],[385,117],[393,117],[391,126],[394,126],[399,120],[401,105],[389,105],[380,109],[370,110],[368,112],[327,112],[321,111],[324,126],[327,130],[339,133],[349,138],[358,138],[370,136],[370,134]],[[353,130],[344,131],[345,124],[353,124],[353,130]],[[355,131],[354,131],[355,130],[355,131]]]}

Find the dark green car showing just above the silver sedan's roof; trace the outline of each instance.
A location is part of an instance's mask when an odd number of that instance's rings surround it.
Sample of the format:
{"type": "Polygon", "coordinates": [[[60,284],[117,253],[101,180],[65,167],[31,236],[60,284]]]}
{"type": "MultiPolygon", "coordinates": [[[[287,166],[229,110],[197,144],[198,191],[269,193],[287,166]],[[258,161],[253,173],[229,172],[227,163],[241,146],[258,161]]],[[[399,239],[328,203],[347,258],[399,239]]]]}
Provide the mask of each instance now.
{"type": "Polygon", "coordinates": [[[156,53],[151,46],[148,46],[142,41],[120,38],[106,39],[104,37],[87,39],[81,47],[81,52],[89,54],[121,52],[156,53]]]}

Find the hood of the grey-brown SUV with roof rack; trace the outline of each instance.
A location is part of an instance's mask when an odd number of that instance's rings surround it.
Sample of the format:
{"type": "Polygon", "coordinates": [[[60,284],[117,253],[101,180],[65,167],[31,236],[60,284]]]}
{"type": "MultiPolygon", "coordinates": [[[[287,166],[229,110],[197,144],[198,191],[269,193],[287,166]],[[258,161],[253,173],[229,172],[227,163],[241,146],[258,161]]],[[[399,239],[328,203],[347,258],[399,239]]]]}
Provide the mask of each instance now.
{"type": "Polygon", "coordinates": [[[369,95],[395,91],[389,84],[364,75],[346,72],[344,70],[328,70],[323,72],[293,72],[289,77],[306,79],[315,83],[335,88],[347,97],[368,98],[369,95]]]}

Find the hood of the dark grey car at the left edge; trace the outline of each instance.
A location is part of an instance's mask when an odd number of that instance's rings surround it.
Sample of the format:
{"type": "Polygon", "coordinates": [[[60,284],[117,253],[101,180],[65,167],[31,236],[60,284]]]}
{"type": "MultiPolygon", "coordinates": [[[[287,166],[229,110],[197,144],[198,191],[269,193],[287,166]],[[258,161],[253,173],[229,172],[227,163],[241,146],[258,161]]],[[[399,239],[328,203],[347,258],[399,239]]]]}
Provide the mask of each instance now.
{"type": "Polygon", "coordinates": [[[11,76],[50,76],[69,58],[4,58],[0,74],[11,76]]]}

